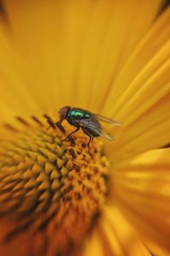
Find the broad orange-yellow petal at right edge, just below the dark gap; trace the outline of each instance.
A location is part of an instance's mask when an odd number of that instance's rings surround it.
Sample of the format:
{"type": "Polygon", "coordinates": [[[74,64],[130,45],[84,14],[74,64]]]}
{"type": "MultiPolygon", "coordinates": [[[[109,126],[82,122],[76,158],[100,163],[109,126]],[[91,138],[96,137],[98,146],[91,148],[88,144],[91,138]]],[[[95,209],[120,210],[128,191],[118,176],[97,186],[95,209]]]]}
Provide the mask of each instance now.
{"type": "Polygon", "coordinates": [[[117,166],[113,174],[114,200],[144,241],[169,250],[170,149],[157,149],[117,166]]]}

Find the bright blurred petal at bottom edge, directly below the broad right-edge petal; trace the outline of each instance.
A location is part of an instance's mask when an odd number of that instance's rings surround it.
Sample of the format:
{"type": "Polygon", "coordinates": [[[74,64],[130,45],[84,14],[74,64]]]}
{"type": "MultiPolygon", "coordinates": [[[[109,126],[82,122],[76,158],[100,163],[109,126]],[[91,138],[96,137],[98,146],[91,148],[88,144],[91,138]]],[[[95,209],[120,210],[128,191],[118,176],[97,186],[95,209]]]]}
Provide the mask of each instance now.
{"type": "Polygon", "coordinates": [[[140,240],[137,232],[133,230],[131,224],[128,223],[116,205],[105,207],[103,210],[104,217],[101,227],[113,255],[150,256],[150,252],[144,246],[143,241],[140,240]]]}

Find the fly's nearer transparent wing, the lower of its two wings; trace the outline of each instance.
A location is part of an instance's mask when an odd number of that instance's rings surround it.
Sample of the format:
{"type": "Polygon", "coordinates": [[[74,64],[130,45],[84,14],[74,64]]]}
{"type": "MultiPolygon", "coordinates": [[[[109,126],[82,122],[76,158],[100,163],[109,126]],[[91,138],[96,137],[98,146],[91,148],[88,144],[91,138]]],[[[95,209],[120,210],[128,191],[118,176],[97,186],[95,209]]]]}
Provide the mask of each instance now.
{"type": "Polygon", "coordinates": [[[99,134],[99,136],[105,137],[107,140],[110,140],[110,141],[115,140],[115,138],[111,136],[109,131],[107,131],[102,126],[96,125],[96,123],[93,119],[81,119],[81,120],[77,120],[77,122],[81,126],[87,127],[91,131],[94,131],[95,133],[99,134]]]}

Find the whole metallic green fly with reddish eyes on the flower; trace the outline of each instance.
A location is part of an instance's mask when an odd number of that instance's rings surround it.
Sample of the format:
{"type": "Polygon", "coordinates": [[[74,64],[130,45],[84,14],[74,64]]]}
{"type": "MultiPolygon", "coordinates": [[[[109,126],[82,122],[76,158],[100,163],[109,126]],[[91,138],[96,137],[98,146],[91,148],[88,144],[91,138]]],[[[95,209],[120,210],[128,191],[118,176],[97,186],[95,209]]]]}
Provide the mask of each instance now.
{"type": "Polygon", "coordinates": [[[59,122],[57,124],[61,125],[62,121],[66,119],[70,125],[76,127],[75,131],[72,131],[65,139],[71,137],[71,135],[82,128],[82,131],[88,135],[88,153],[90,154],[89,145],[93,137],[105,137],[107,140],[113,140],[114,137],[111,136],[109,131],[100,124],[100,121],[108,123],[110,125],[121,125],[120,123],[105,118],[96,113],[91,113],[88,110],[82,108],[71,108],[64,107],[59,110],[59,122]]]}

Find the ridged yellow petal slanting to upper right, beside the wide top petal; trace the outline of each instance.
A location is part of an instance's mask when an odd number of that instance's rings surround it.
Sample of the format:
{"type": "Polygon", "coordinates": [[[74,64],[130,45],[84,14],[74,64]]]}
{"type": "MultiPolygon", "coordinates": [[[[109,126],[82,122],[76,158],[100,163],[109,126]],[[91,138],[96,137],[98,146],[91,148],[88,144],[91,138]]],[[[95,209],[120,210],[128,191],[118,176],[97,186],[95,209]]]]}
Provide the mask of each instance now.
{"type": "MultiPolygon", "coordinates": [[[[167,8],[133,50],[128,61],[122,66],[121,72],[116,75],[114,83],[111,84],[111,90],[108,91],[108,97],[105,99],[105,107],[103,109],[105,113],[122,118],[124,121],[127,111],[132,113],[131,110],[134,107],[133,105],[128,107],[129,102],[138,103],[135,102],[136,93],[140,93],[139,96],[152,96],[152,93],[155,92],[155,86],[158,85],[152,84],[150,88],[149,83],[151,84],[155,76],[161,79],[162,67],[165,66],[164,72],[166,72],[170,44],[169,24],[170,8],[167,8]],[[144,91],[145,95],[142,94],[144,91]],[[150,95],[147,94],[148,92],[150,95]],[[123,109],[124,113],[122,113],[123,109]]],[[[168,81],[168,79],[166,80],[168,81]]],[[[160,86],[160,89],[161,87],[163,86],[160,86]]],[[[133,110],[136,111],[134,108],[133,110]]],[[[125,120],[127,120],[127,116],[125,120]]]]}

